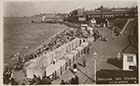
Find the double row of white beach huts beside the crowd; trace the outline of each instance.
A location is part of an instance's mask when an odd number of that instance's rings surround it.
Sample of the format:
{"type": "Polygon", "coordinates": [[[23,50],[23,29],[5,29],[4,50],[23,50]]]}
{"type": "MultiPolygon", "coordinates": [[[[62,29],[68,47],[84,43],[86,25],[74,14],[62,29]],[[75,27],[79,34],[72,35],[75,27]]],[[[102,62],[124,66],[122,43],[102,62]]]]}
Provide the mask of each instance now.
{"type": "Polygon", "coordinates": [[[50,77],[52,80],[60,77],[70,66],[76,63],[81,55],[86,54],[89,43],[86,39],[75,38],[51,52],[45,52],[26,63],[26,77],[34,75],[42,78],[50,77]]]}

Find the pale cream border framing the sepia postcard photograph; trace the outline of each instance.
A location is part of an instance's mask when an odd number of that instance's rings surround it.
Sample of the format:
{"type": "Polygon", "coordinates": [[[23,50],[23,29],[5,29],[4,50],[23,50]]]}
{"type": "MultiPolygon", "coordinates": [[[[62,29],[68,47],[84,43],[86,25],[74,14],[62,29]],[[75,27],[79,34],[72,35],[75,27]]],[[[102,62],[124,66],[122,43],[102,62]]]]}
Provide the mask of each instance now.
{"type": "MultiPolygon", "coordinates": [[[[40,2],[40,1],[71,1],[71,0],[0,0],[0,85],[3,85],[3,2],[9,2],[9,1],[32,1],[32,2],[40,2]]],[[[88,0],[79,0],[79,1],[88,1],[88,0]]],[[[98,2],[97,0],[94,0],[95,2],[98,2]]],[[[100,1],[137,1],[138,2],[138,14],[140,14],[140,0],[100,0],[100,1]]],[[[138,16],[138,23],[140,22],[140,18],[138,16]]],[[[140,28],[140,24],[138,24],[138,28],[140,28]]],[[[138,32],[140,32],[140,30],[138,29],[138,32]]],[[[139,39],[140,39],[140,33],[139,33],[139,39]]],[[[140,45],[140,41],[138,43],[140,45]]],[[[140,48],[140,47],[139,47],[140,48]]],[[[139,51],[140,52],[140,51],[139,51]]],[[[140,55],[139,55],[140,57],[140,55]]],[[[140,58],[139,58],[139,64],[140,64],[140,58]]],[[[140,66],[139,66],[139,74],[140,74],[140,66]]],[[[140,75],[139,75],[140,77],[140,75]]],[[[91,84],[91,85],[86,85],[86,86],[103,86],[103,84],[101,85],[97,85],[97,84],[91,84]]],[[[139,84],[105,84],[106,86],[140,86],[140,78],[139,78],[139,84]]],[[[22,86],[22,85],[20,85],[22,86]]],[[[25,86],[25,85],[24,85],[25,86]]],[[[29,85],[26,85],[29,86],[29,85]]],[[[41,86],[41,85],[38,85],[41,86]]],[[[55,85],[54,85],[55,86],[55,85]]],[[[57,85],[59,86],[59,85],[57,85]]],[[[61,85],[60,85],[61,86],[61,85]]],[[[76,86],[76,85],[75,85],[76,86]]],[[[80,86],[85,86],[85,85],[80,85],[80,86]]]]}

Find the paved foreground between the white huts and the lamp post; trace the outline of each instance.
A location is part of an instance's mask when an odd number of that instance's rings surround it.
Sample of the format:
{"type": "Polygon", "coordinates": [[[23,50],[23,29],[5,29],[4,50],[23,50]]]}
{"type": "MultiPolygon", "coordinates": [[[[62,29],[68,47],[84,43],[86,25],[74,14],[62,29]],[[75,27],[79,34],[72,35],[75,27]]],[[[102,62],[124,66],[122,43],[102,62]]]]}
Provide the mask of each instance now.
{"type": "MultiPolygon", "coordinates": [[[[94,57],[93,57],[93,46],[91,47],[90,54],[84,55],[86,57],[86,67],[78,65],[78,68],[80,71],[77,72],[77,75],[79,77],[79,83],[80,84],[94,84],[94,57]]],[[[82,57],[80,57],[82,58],[82,57]]],[[[81,62],[81,59],[78,60],[78,62],[81,62]]],[[[54,80],[53,84],[59,84],[61,80],[68,81],[72,78],[72,72],[70,70],[66,71],[60,79],[54,80]]]]}

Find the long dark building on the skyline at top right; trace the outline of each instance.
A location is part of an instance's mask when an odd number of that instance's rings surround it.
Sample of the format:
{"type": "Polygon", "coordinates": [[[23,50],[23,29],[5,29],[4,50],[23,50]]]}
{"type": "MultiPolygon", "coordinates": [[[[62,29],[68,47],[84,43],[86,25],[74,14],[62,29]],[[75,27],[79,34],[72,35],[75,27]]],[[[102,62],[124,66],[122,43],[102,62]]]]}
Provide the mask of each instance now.
{"type": "Polygon", "coordinates": [[[85,11],[86,16],[94,18],[120,18],[120,17],[137,17],[137,7],[132,8],[105,8],[103,6],[85,11]]]}

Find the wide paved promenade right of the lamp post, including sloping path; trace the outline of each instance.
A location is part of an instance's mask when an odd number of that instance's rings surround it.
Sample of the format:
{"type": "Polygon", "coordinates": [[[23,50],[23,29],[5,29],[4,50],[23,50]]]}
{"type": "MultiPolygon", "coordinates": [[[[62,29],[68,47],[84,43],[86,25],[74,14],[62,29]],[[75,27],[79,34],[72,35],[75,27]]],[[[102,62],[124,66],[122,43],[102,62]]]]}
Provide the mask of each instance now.
{"type": "Polygon", "coordinates": [[[121,52],[129,44],[128,35],[133,28],[133,23],[133,21],[130,21],[123,34],[116,39],[112,39],[110,29],[100,30],[100,33],[103,36],[106,36],[109,40],[106,42],[97,41],[94,44],[94,49],[97,51],[98,54],[96,65],[97,71],[100,69],[120,70],[120,68],[107,63],[107,60],[109,58],[116,58],[118,52],[121,52]]]}

